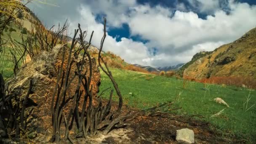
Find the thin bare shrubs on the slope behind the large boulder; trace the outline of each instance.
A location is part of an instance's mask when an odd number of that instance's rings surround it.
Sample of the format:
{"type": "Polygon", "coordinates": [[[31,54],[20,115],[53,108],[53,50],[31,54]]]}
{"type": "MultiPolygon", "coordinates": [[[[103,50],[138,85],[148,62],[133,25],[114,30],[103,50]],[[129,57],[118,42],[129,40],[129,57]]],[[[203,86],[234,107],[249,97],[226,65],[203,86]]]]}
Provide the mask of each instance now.
{"type": "MultiPolygon", "coordinates": [[[[50,51],[56,44],[67,43],[68,25],[66,21],[63,26],[59,24],[56,29],[54,26],[50,29],[45,29],[41,24],[35,26],[32,24],[30,32],[28,31],[26,35],[22,32],[19,34],[21,41],[13,39],[8,34],[8,51],[11,54],[14,75],[16,75],[21,65],[27,63],[27,58],[32,60],[39,51],[50,51]]],[[[23,24],[21,24],[22,27],[23,24]]]]}

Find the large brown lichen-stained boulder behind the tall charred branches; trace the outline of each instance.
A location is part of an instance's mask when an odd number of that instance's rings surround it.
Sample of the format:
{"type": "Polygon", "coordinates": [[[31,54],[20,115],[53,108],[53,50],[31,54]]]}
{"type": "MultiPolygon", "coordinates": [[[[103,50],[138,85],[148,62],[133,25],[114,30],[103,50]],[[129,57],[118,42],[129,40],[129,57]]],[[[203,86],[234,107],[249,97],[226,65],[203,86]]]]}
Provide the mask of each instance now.
{"type": "MultiPolygon", "coordinates": [[[[56,86],[56,77],[58,72],[58,67],[61,65],[61,60],[63,57],[63,49],[66,48],[66,53],[64,57],[64,70],[67,65],[67,58],[69,56],[69,48],[67,45],[56,45],[51,51],[40,51],[35,59],[29,61],[27,64],[22,66],[17,72],[16,76],[11,80],[8,80],[6,85],[8,85],[8,90],[10,92],[15,92],[19,96],[24,96],[29,88],[29,81],[33,79],[35,85],[32,89],[33,94],[29,96],[30,99],[38,104],[32,112],[31,117],[37,118],[40,126],[44,129],[51,127],[51,99],[53,96],[53,91],[56,86]],[[36,114],[36,115],[34,115],[36,114]]],[[[82,56],[78,58],[73,56],[72,59],[79,61],[82,56]]],[[[84,67],[84,72],[89,68],[89,62],[86,60],[84,67]]],[[[93,87],[92,94],[96,96],[99,91],[99,85],[101,83],[99,68],[97,67],[96,60],[93,58],[93,75],[91,81],[91,87],[93,87]]],[[[77,70],[76,64],[72,64],[70,79],[75,75],[77,70]]],[[[89,75],[89,70],[86,76],[89,75]]],[[[78,78],[76,77],[71,83],[69,90],[67,91],[67,98],[72,97],[75,93],[77,87],[78,78]]],[[[83,89],[83,87],[81,88],[83,89]]],[[[81,99],[83,100],[83,99],[81,99]]],[[[80,102],[81,104],[82,102],[80,102]]],[[[72,101],[69,101],[66,107],[71,107],[72,101]]],[[[30,109],[28,110],[28,112],[30,109]]]]}

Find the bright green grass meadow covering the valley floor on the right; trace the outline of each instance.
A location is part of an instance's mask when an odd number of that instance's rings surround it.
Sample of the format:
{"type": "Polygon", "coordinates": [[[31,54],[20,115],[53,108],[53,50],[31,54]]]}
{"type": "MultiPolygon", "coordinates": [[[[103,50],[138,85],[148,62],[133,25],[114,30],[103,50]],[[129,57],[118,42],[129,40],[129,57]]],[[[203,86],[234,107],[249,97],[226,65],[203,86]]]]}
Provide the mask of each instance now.
{"type": "MultiPolygon", "coordinates": [[[[249,94],[245,88],[220,85],[204,85],[202,83],[187,82],[183,89],[183,80],[155,75],[146,75],[122,69],[111,69],[112,74],[123,95],[124,103],[131,107],[145,109],[166,101],[175,101],[173,107],[182,107],[176,111],[179,115],[202,115],[204,121],[213,125],[224,137],[236,136],[248,142],[256,142],[256,107],[243,111],[243,103],[249,94]],[[204,91],[202,88],[208,88],[204,91]],[[133,95],[129,94],[133,93],[133,95]],[[179,95],[180,93],[180,95],[179,95]],[[213,101],[220,97],[229,104],[229,108],[213,101]],[[224,113],[211,117],[224,109],[224,113]],[[211,118],[210,118],[211,117],[211,118]]],[[[111,81],[101,71],[100,90],[112,85],[111,81]]],[[[109,93],[104,94],[108,98],[109,93]]],[[[248,106],[256,104],[256,91],[251,91],[248,106]]],[[[117,98],[115,99],[117,100],[117,98]]]]}

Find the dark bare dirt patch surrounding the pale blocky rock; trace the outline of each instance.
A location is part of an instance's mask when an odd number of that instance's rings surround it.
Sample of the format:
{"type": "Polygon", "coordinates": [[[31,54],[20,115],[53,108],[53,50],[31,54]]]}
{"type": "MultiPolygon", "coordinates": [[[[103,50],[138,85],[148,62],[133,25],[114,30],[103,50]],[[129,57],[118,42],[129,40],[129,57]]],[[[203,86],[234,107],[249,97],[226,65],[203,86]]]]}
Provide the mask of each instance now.
{"type": "MultiPolygon", "coordinates": [[[[113,109],[117,108],[117,104],[113,104],[113,109]]],[[[123,106],[123,113],[131,110],[127,106],[123,106]]],[[[45,119],[46,120],[46,119],[45,119]]],[[[74,124],[75,125],[75,124],[74,124]]],[[[107,135],[98,133],[94,137],[87,139],[74,139],[75,144],[176,144],[176,130],[189,128],[195,133],[195,144],[228,144],[234,140],[224,139],[219,133],[210,129],[209,123],[197,120],[193,117],[179,117],[177,115],[166,116],[147,116],[140,112],[139,116],[131,121],[123,123],[123,127],[115,127],[107,135]]],[[[30,142],[33,143],[49,143],[51,139],[51,123],[45,122],[45,129],[37,131],[37,138],[30,142]],[[46,126],[46,123],[48,123],[46,126]]],[[[67,144],[69,141],[64,140],[64,122],[61,123],[61,144],[67,144]]],[[[71,137],[74,137],[75,126],[69,131],[71,137]]],[[[232,142],[233,141],[233,142],[232,142]]],[[[24,139],[27,142],[27,139],[24,139]]],[[[240,141],[241,142],[241,141],[240,141]]],[[[240,143],[238,142],[238,143],[240,143]]]]}

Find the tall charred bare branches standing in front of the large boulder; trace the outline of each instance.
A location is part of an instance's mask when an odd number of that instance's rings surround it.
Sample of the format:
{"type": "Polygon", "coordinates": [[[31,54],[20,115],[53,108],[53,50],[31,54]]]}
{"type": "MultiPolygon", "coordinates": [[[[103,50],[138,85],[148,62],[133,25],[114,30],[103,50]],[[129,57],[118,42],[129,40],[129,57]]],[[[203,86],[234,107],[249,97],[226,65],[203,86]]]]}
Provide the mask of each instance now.
{"type": "Polygon", "coordinates": [[[52,121],[53,121],[53,133],[51,141],[58,142],[60,141],[60,124],[62,118],[64,118],[65,122],[65,136],[64,139],[69,139],[73,143],[74,138],[77,137],[87,137],[87,136],[95,136],[97,133],[107,134],[117,123],[122,123],[125,119],[130,117],[133,113],[128,115],[121,115],[121,108],[123,105],[122,95],[118,88],[117,83],[115,82],[111,71],[109,70],[107,63],[101,57],[101,51],[103,48],[104,40],[106,37],[106,19],[104,18],[104,35],[101,39],[101,46],[99,49],[99,66],[106,73],[106,75],[110,78],[119,97],[119,106],[117,110],[111,110],[112,108],[112,97],[113,90],[110,93],[109,101],[106,105],[104,105],[101,99],[98,99],[98,104],[93,105],[93,96],[92,96],[92,88],[91,80],[92,80],[92,59],[90,54],[88,53],[88,48],[91,45],[91,40],[93,37],[93,32],[91,33],[91,37],[88,43],[85,42],[85,37],[87,35],[87,31],[82,31],[80,28],[80,24],[78,24],[78,29],[75,30],[75,35],[72,40],[71,47],[69,49],[69,56],[67,58],[67,65],[65,69],[63,68],[64,64],[64,53],[66,53],[66,49],[63,49],[63,57],[61,66],[58,70],[57,84],[52,97],[51,103],[51,112],[52,112],[52,121]],[[79,33],[79,37],[76,38],[77,33],[79,33]],[[77,43],[80,43],[78,48],[75,47],[77,43]],[[74,51],[74,56],[72,57],[72,51],[74,51]],[[83,52],[82,52],[83,51],[83,52]],[[77,59],[79,58],[79,61],[77,59]],[[82,58],[81,58],[82,57],[82,58]],[[89,64],[89,68],[85,70],[85,64],[89,64]],[[104,64],[104,68],[101,63],[104,64]],[[76,65],[76,71],[74,75],[70,75],[72,65],[76,65]],[[85,71],[85,72],[84,72],[85,71]],[[89,76],[86,74],[89,73],[89,76]],[[76,91],[72,96],[68,96],[68,89],[70,88],[70,83],[74,79],[77,79],[76,91]],[[69,98],[72,99],[69,99],[69,98]],[[82,100],[83,98],[83,100],[82,100]],[[72,107],[69,108],[69,112],[67,114],[64,113],[64,107],[67,105],[69,100],[72,101],[72,107]],[[82,104],[82,109],[79,110],[79,105],[82,104]],[[77,133],[74,138],[71,138],[69,134],[69,130],[72,127],[74,120],[77,126],[77,133]]]}

